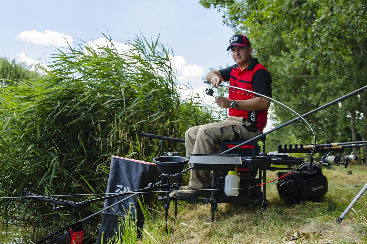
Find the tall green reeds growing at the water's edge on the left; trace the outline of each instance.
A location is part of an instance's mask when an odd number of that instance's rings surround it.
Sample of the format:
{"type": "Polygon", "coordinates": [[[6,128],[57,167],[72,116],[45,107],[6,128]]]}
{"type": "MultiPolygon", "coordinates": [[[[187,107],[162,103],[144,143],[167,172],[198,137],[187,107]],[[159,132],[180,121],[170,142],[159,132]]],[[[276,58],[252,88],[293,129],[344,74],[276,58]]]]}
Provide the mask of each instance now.
{"type": "MultiPolygon", "coordinates": [[[[137,138],[133,129],[183,137],[188,127],[211,122],[211,112],[193,98],[180,99],[168,58],[172,51],[158,39],[136,36],[126,42],[129,50],[120,51],[105,38],[104,46],[59,49],[40,79],[4,82],[0,197],[21,196],[25,187],[44,195],[103,193],[112,155],[151,161],[159,152],[157,141],[137,138]]],[[[0,199],[1,221],[27,220],[44,235],[102,204],[55,213],[51,204],[0,199]]],[[[100,221],[88,220],[89,238],[100,221]]]]}

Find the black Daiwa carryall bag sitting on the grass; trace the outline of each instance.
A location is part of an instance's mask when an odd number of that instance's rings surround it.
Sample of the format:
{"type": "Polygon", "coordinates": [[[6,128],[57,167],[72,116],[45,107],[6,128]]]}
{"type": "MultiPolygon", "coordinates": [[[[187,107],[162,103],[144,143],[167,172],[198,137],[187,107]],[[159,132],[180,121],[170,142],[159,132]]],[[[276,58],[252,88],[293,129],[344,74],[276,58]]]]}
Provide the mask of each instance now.
{"type": "MultiPolygon", "coordinates": [[[[305,167],[307,167],[305,165],[305,167]]],[[[278,177],[288,174],[278,172],[278,177]]],[[[279,179],[276,184],[280,199],[287,204],[315,200],[327,193],[327,178],[320,165],[313,165],[309,171],[294,171],[279,179]]]]}

